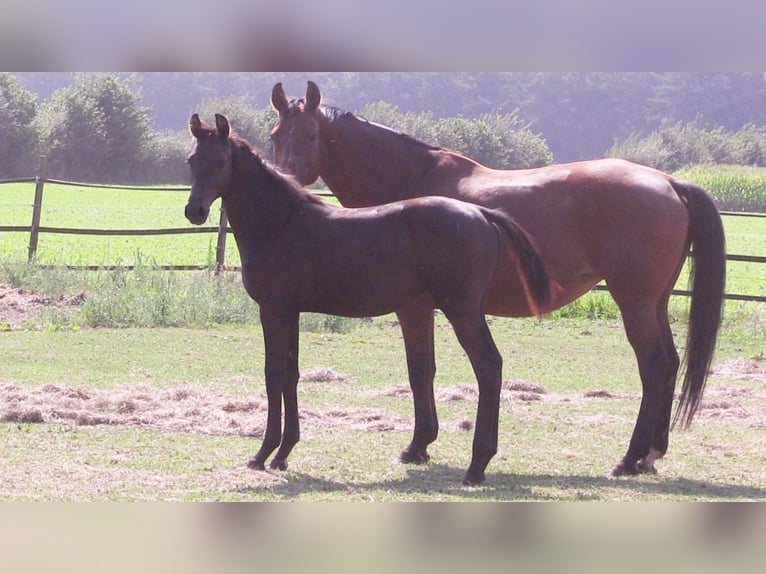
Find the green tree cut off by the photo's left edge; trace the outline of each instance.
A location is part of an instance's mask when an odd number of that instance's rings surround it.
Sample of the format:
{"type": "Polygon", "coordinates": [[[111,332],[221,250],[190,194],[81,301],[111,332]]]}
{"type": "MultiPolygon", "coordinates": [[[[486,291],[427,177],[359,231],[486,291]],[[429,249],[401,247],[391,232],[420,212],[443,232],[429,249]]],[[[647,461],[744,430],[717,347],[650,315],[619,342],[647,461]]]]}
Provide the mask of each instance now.
{"type": "Polygon", "coordinates": [[[36,97],[0,73],[0,178],[31,177],[37,166],[36,97]]]}

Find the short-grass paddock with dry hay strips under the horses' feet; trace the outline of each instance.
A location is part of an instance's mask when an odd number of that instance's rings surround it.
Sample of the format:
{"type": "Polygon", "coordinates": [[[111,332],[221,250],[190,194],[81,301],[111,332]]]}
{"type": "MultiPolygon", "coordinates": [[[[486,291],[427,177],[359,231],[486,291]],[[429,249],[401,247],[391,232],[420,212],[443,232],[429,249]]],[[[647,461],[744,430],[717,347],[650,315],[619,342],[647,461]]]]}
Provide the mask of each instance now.
{"type": "Polygon", "coordinates": [[[659,475],[609,479],[640,397],[619,323],[493,319],[491,328],[505,383],[500,451],[481,487],[460,485],[476,385],[443,319],[431,462],[395,460],[412,403],[401,334],[380,319],[301,334],[303,437],[284,473],[245,466],[265,425],[255,326],[0,333],[0,499],[766,499],[762,331],[724,331],[703,409],[671,434],[659,475]]]}

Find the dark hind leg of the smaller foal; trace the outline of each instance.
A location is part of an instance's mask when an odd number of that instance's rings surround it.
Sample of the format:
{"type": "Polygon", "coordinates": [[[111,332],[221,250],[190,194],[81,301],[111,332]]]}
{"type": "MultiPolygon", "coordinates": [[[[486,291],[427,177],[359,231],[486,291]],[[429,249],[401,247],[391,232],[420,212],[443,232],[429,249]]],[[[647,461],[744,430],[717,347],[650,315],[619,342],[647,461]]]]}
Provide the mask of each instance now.
{"type": "Polygon", "coordinates": [[[442,310],[452,323],[455,335],[468,355],[479,383],[473,453],[463,484],[480,484],[484,482],[484,471],[489,461],[497,452],[503,358],[492,339],[481,309],[467,313],[451,311],[444,307],[442,310]]]}

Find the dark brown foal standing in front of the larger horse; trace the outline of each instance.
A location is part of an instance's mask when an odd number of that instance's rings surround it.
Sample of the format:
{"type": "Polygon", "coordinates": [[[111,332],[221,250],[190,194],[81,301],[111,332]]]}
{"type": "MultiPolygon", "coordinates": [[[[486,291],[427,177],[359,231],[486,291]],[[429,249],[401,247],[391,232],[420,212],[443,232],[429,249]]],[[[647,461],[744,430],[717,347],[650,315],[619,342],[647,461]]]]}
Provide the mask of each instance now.
{"type": "MultiPolygon", "coordinates": [[[[372,317],[417,301],[452,324],[479,384],[473,453],[464,482],[484,480],[497,451],[502,358],[484,317],[500,259],[520,267],[521,295],[536,312],[551,284],[527,234],[499,211],[447,197],[381,207],[333,206],[304,190],[236,137],[226,117],[208,126],[194,114],[186,218],[201,225],[221,197],[242,261],[242,282],[260,307],[268,414],[262,446],[248,466],[286,469],[300,437],[298,323],[303,311],[372,317]],[[284,432],[282,405],[284,401],[284,432]]],[[[417,430],[416,430],[417,432],[417,430]]]]}

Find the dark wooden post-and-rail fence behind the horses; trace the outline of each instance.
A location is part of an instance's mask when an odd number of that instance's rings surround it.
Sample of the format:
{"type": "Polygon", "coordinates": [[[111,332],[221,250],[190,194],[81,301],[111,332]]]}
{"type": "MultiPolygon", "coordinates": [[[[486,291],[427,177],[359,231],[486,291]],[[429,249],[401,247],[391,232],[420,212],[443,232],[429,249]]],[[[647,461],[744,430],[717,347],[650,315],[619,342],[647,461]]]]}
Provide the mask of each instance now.
{"type": "MultiPolygon", "coordinates": [[[[40,167],[38,170],[37,177],[31,177],[31,178],[19,178],[19,179],[7,179],[7,180],[0,180],[0,184],[9,184],[9,183],[35,183],[35,196],[34,196],[34,203],[32,206],[32,223],[31,225],[26,226],[0,226],[0,232],[3,231],[15,231],[15,232],[26,232],[29,233],[29,254],[28,258],[29,261],[33,261],[35,258],[35,254],[37,253],[37,244],[39,240],[39,236],[41,233],[61,233],[61,234],[71,234],[71,235],[177,235],[177,234],[185,234],[185,233],[215,233],[217,234],[217,241],[216,241],[216,255],[215,255],[215,272],[220,273],[224,270],[238,270],[237,268],[227,268],[224,265],[224,258],[226,254],[226,237],[231,232],[231,228],[228,227],[228,221],[226,219],[226,213],[223,209],[223,206],[221,206],[221,217],[218,222],[218,225],[215,227],[176,227],[176,228],[164,228],[164,229],[83,229],[83,228],[66,228],[66,227],[47,227],[40,225],[40,215],[42,213],[42,206],[43,206],[43,191],[45,188],[46,183],[55,183],[59,185],[70,185],[70,186],[77,186],[77,187],[93,187],[93,188],[101,188],[101,189],[125,189],[125,190],[158,190],[158,191],[189,191],[190,188],[188,186],[185,187],[136,187],[136,186],[125,186],[125,185],[99,185],[99,184],[91,184],[91,183],[77,183],[77,182],[71,182],[71,181],[61,181],[56,179],[47,179],[46,178],[46,165],[45,165],[45,157],[40,158],[40,167]]],[[[326,195],[330,196],[332,194],[320,194],[320,195],[326,195]]],[[[764,213],[737,213],[737,212],[721,212],[722,216],[725,217],[766,217],[766,214],[764,213]]],[[[691,256],[694,256],[692,253],[691,256]]],[[[743,262],[749,262],[749,263],[766,263],[766,257],[759,257],[754,255],[736,255],[736,254],[727,254],[726,256],[727,261],[743,261],[743,262]]],[[[114,266],[115,268],[119,267],[120,269],[130,269],[131,266],[114,266]]],[[[78,266],[77,269],[92,269],[92,270],[102,270],[102,269],[109,269],[109,266],[104,265],[94,265],[94,266],[78,266]]],[[[198,270],[198,269],[206,269],[206,265],[160,265],[158,266],[159,269],[166,269],[166,270],[174,270],[174,271],[192,271],[192,270],[198,270]]],[[[606,290],[606,286],[604,285],[597,285],[594,287],[594,290],[597,291],[603,291],[606,290]]],[[[688,296],[690,295],[689,291],[685,290],[674,290],[674,295],[683,295],[688,296]]],[[[757,301],[761,303],[766,303],[766,296],[759,296],[759,295],[745,295],[745,294],[738,294],[738,293],[726,293],[726,299],[735,300],[735,301],[757,301]]]]}

